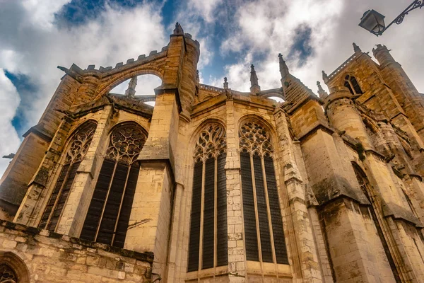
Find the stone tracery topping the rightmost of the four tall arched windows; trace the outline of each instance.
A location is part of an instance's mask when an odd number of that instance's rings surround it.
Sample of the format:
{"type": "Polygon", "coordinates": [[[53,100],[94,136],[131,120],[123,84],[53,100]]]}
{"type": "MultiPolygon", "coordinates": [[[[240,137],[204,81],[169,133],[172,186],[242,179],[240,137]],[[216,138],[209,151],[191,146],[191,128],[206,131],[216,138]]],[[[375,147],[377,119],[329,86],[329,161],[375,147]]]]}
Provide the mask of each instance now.
{"type": "Polygon", "coordinates": [[[240,151],[258,156],[272,156],[273,149],[266,128],[257,120],[242,123],[239,131],[240,151]]]}

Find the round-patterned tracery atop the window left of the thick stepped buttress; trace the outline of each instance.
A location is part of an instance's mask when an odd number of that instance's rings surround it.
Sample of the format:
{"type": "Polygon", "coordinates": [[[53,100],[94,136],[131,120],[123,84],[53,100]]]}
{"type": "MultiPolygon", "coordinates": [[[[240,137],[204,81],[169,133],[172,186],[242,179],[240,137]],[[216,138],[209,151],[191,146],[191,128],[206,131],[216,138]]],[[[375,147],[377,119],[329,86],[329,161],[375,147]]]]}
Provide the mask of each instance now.
{"type": "Polygon", "coordinates": [[[110,135],[110,145],[106,158],[119,163],[131,164],[136,161],[147,136],[133,123],[120,125],[110,135]]]}

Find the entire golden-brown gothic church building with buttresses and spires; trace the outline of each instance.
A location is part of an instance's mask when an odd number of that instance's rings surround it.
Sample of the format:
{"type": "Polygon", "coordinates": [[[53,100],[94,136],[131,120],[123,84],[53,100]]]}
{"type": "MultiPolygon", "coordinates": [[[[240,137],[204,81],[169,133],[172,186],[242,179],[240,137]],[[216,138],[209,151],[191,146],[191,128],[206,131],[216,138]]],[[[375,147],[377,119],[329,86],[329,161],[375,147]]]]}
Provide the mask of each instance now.
{"type": "Polygon", "coordinates": [[[147,57],[59,67],[0,181],[0,282],[424,282],[424,96],[372,51],[319,96],[281,54],[281,87],[253,65],[249,93],[199,83],[179,24],[147,57]]]}

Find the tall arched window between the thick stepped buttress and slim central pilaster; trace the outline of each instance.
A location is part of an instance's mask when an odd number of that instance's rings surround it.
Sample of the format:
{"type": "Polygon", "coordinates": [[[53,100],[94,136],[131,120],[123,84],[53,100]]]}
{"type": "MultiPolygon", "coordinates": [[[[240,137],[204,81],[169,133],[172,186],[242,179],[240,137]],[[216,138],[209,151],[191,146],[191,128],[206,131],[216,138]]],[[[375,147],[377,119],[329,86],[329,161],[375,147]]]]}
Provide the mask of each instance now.
{"type": "Polygon", "coordinates": [[[226,147],[222,125],[211,122],[201,130],[194,151],[189,272],[228,265],[226,147]]]}

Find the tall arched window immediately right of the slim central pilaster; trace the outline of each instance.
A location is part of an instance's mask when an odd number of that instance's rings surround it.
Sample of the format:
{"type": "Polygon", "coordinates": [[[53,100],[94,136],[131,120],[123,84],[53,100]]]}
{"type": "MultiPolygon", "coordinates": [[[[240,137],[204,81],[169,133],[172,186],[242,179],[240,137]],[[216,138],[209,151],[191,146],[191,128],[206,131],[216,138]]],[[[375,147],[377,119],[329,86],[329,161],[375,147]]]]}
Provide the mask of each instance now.
{"type": "Polygon", "coordinates": [[[239,144],[246,259],[288,264],[269,131],[245,120],[239,144]]]}

